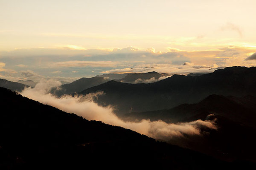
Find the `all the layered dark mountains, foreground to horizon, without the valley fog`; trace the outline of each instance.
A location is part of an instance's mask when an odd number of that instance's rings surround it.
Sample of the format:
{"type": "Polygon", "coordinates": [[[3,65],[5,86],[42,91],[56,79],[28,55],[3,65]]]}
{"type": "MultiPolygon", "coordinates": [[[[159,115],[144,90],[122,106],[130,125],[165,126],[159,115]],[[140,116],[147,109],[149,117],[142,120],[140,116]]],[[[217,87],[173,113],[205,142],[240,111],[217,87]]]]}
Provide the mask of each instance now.
{"type": "Polygon", "coordinates": [[[201,135],[183,134],[156,142],[122,127],[42,105],[13,92],[27,85],[0,79],[1,87],[12,90],[0,88],[0,167],[87,167],[99,161],[102,167],[111,167],[109,162],[113,160],[116,167],[255,167],[256,67],[229,67],[203,75],[169,77],[150,72],[122,76],[116,80],[81,78],[51,92],[58,97],[103,92],[93,101],[111,106],[126,122],[149,119],[179,125],[201,119],[213,122],[217,128],[199,126],[201,135]],[[157,82],[134,84],[143,79],[157,82]]]}

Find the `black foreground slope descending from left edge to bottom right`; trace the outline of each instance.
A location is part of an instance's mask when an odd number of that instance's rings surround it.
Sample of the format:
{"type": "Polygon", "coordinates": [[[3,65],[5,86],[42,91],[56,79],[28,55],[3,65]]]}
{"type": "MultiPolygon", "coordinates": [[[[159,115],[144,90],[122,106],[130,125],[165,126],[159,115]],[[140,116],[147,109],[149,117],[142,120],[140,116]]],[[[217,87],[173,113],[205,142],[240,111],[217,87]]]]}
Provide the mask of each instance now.
{"type": "Polygon", "coordinates": [[[226,163],[140,135],[88,121],[0,88],[0,169],[215,169],[226,163]]]}

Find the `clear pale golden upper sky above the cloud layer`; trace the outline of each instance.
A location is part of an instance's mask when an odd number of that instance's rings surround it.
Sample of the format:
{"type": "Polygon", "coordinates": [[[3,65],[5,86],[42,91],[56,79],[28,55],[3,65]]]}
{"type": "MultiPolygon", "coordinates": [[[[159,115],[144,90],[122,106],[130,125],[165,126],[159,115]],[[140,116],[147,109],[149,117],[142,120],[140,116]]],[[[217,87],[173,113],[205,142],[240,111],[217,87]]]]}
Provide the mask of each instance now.
{"type": "Polygon", "coordinates": [[[255,0],[1,0],[0,50],[256,46],[255,0]]]}

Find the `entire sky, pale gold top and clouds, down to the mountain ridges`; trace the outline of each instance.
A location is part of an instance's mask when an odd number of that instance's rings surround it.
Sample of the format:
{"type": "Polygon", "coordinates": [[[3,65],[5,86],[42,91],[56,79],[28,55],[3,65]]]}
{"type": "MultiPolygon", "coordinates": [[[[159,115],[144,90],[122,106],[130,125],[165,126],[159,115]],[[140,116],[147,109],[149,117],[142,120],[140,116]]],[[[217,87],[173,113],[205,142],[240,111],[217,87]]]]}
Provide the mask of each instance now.
{"type": "Polygon", "coordinates": [[[0,0],[0,78],[256,66],[255,0],[0,0]]]}

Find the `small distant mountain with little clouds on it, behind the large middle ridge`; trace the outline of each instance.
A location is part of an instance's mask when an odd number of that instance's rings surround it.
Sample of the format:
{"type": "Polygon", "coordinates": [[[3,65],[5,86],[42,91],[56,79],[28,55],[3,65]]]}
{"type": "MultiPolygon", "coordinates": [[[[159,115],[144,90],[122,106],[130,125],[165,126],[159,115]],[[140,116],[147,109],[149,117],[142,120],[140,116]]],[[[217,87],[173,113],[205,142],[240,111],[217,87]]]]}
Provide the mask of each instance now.
{"type": "Polygon", "coordinates": [[[146,82],[147,80],[150,80],[150,79],[152,79],[151,81],[155,82],[160,77],[167,77],[167,76],[169,76],[169,74],[166,74],[166,73],[159,74],[155,71],[152,71],[148,73],[127,74],[127,76],[125,76],[124,78],[116,81],[136,84],[136,83],[146,82]]]}

